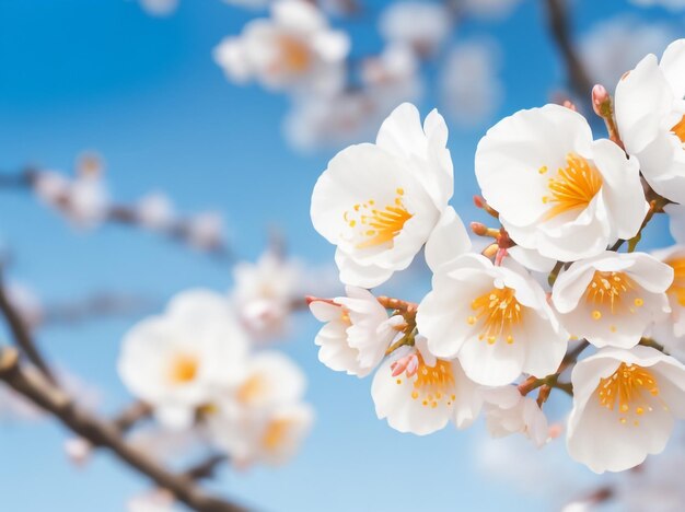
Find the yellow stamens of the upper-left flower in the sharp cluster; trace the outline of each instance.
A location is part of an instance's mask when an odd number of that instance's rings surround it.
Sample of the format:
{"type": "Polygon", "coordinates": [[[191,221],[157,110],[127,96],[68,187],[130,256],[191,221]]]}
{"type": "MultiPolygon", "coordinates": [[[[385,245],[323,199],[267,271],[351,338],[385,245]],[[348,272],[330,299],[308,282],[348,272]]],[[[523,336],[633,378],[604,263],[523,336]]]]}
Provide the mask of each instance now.
{"type": "Polygon", "coordinates": [[[390,243],[399,234],[402,229],[413,214],[407,211],[402,200],[405,191],[403,188],[396,189],[396,197],[393,205],[386,205],[383,209],[375,208],[375,201],[369,199],[367,202],[358,203],[342,214],[347,224],[357,229],[361,242],[357,248],[374,247],[376,245],[390,243]]]}

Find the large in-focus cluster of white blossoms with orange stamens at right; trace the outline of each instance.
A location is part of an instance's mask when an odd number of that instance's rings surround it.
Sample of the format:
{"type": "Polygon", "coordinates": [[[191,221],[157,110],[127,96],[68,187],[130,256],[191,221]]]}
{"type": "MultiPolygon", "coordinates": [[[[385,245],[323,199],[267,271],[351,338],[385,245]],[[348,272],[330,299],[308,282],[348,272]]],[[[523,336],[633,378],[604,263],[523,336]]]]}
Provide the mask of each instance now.
{"type": "Polygon", "coordinates": [[[521,432],[542,446],[558,389],[572,395],[576,461],[619,472],[661,452],[685,417],[685,248],[636,249],[655,214],[678,231],[684,97],[680,39],[624,74],[614,97],[594,88],[609,138],[594,139],[570,104],[497,123],[475,154],[476,205],[498,222],[471,224],[492,238],[480,254],[449,205],[445,121],[398,106],[375,143],[340,151],[313,190],[312,222],[347,286],[346,296],[310,298],[326,323],[321,361],[375,372],[376,414],[402,432],[484,416],[494,437],[521,432]],[[418,304],[369,291],[421,249],[432,289],[418,304]]]}

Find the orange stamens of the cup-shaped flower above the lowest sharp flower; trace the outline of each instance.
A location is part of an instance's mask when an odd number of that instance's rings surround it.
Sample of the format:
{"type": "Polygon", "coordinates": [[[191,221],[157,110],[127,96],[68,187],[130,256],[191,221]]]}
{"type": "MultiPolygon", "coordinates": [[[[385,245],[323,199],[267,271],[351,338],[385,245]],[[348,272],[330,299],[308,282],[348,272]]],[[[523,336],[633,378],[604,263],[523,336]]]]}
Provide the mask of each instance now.
{"type": "MultiPolygon", "coordinates": [[[[624,272],[595,270],[585,289],[585,302],[591,306],[594,305],[590,315],[599,321],[604,313],[617,315],[624,314],[626,310],[635,313],[636,307],[645,305],[645,300],[637,296],[637,290],[635,281],[624,272]]],[[[612,331],[616,330],[614,325],[609,328],[612,331]]]]}

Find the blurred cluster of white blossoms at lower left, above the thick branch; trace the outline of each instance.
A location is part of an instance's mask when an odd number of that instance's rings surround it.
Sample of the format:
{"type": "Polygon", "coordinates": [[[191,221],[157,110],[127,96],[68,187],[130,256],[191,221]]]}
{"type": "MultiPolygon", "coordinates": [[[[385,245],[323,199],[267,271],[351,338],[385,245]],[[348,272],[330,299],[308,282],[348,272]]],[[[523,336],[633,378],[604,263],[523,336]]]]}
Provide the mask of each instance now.
{"type": "Polygon", "coordinates": [[[299,267],[266,253],[235,269],[235,289],[178,293],[125,336],[118,370],[132,395],[172,432],[199,430],[233,464],[281,464],[309,433],[306,380],[282,352],[299,267]]]}

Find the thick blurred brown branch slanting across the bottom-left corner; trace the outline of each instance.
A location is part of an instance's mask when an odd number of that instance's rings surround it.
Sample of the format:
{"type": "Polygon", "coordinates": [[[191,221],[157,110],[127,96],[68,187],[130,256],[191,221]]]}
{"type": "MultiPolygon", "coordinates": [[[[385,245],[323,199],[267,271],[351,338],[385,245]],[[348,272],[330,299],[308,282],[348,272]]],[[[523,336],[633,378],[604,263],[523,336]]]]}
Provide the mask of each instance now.
{"type": "Polygon", "coordinates": [[[7,347],[0,352],[0,380],[38,407],[50,412],[77,435],[93,446],[109,450],[119,459],[167,489],[174,497],[200,512],[240,512],[241,507],[207,494],[193,478],[169,472],[148,454],[124,441],[117,427],[78,406],[63,391],[42,374],[26,372],[19,363],[19,353],[7,347]]]}

